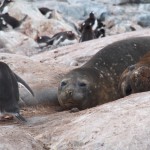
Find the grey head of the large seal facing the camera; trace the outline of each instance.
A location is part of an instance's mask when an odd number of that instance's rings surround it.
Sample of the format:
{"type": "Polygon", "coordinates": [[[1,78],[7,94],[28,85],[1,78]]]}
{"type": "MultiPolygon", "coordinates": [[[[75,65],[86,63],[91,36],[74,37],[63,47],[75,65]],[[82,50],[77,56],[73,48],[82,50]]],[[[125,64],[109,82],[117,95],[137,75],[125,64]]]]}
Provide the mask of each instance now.
{"type": "Polygon", "coordinates": [[[90,108],[98,104],[97,70],[78,68],[69,72],[58,87],[58,100],[64,109],[90,108]]]}

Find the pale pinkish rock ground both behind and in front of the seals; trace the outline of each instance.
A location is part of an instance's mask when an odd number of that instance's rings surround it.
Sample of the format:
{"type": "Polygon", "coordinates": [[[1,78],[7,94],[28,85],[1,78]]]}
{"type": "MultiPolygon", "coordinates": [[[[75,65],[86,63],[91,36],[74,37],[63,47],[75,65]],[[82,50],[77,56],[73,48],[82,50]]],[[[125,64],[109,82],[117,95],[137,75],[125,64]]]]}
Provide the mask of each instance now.
{"type": "MultiPolygon", "coordinates": [[[[33,89],[38,85],[56,87],[61,75],[75,67],[70,65],[71,62],[76,61],[80,66],[109,43],[133,36],[148,36],[149,32],[143,30],[106,37],[102,41],[92,40],[31,58],[6,53],[1,53],[0,58],[33,89]],[[89,44],[91,47],[87,47],[89,44]],[[81,54],[84,54],[82,61],[81,54]],[[64,59],[65,56],[68,59],[64,59]]],[[[149,99],[149,92],[134,94],[78,113],[57,112],[55,106],[24,107],[21,113],[27,124],[15,120],[1,122],[0,148],[149,149],[149,99]]]]}

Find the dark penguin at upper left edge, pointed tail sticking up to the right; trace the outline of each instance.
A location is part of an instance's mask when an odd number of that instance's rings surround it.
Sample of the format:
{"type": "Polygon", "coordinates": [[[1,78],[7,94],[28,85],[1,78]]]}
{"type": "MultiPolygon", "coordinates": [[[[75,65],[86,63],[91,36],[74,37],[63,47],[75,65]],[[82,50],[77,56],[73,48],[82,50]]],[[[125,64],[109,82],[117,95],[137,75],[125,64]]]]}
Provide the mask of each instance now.
{"type": "Polygon", "coordinates": [[[7,24],[9,24],[13,29],[19,27],[28,17],[28,15],[25,15],[23,19],[18,21],[16,18],[9,15],[9,13],[1,14],[0,19],[5,20],[7,24]]]}

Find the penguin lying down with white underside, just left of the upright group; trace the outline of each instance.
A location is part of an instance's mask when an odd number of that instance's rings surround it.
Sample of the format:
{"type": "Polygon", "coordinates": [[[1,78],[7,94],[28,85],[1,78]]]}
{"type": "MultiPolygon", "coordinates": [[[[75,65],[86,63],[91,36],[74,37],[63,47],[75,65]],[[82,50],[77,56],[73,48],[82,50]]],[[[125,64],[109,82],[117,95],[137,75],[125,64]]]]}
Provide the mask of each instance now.
{"type": "Polygon", "coordinates": [[[63,46],[77,43],[76,35],[72,31],[64,31],[55,34],[48,42],[48,45],[63,46]]]}

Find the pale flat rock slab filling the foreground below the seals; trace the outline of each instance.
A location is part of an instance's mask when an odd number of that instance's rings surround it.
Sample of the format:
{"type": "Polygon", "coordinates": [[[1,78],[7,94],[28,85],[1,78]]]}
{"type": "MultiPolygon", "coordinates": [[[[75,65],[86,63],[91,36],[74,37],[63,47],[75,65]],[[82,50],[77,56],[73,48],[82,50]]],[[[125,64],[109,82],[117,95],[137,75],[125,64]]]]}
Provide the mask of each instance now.
{"type": "Polygon", "coordinates": [[[36,147],[44,145],[41,150],[149,149],[149,106],[150,92],[130,95],[78,113],[41,114],[40,108],[40,114],[27,117],[26,125],[3,125],[0,139],[4,141],[2,146],[8,149],[10,145],[11,149],[19,149],[23,144],[26,145],[24,149],[36,149],[31,147],[33,143],[36,147]]]}

